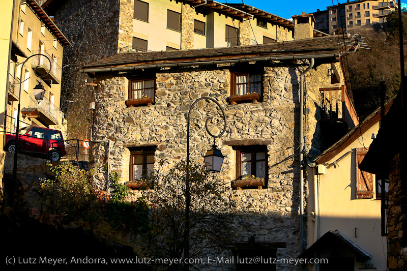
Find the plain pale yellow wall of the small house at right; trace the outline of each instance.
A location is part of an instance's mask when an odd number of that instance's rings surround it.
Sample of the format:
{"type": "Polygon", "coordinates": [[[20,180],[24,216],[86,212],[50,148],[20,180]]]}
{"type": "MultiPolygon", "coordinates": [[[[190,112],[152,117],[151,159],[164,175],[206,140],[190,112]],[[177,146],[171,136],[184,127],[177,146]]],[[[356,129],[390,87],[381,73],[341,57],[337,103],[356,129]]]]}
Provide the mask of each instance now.
{"type": "MultiPolygon", "coordinates": [[[[374,198],[356,199],[356,152],[359,147],[368,148],[373,139],[371,135],[377,134],[379,123],[376,123],[350,146],[346,147],[333,159],[326,162],[331,164],[345,155],[336,166],[326,166],[325,174],[316,174],[316,170],[308,168],[309,196],[308,196],[308,239],[310,247],[319,237],[329,230],[339,230],[348,239],[357,244],[364,251],[372,255],[366,263],[373,263],[377,270],[385,270],[387,245],[386,238],[381,236],[381,201],[374,198]],[[319,204],[317,196],[317,183],[319,182],[319,204]],[[319,205],[319,232],[318,206],[319,205]],[[310,215],[315,212],[315,222],[310,215]],[[357,237],[355,237],[357,228],[357,237]]],[[[355,271],[359,270],[359,263],[355,271]]]]}

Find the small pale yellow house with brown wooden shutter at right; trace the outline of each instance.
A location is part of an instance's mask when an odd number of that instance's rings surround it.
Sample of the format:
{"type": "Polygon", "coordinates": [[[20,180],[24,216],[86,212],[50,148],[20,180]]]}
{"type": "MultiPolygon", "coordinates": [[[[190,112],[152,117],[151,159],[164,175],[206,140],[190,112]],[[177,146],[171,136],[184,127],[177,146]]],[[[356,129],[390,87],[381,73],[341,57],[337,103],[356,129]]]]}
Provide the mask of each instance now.
{"type": "Polygon", "coordinates": [[[380,246],[387,242],[380,228],[380,180],[360,169],[380,120],[377,109],[308,164],[307,250],[302,257],[329,260],[309,270],[387,269],[387,246],[380,246]]]}

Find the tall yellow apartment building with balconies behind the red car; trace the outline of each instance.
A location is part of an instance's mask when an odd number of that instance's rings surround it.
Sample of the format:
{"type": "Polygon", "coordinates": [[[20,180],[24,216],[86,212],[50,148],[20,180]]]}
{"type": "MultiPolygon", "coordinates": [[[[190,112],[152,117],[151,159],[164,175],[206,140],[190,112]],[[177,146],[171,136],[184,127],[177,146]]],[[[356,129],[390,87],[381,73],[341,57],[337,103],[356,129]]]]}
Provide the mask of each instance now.
{"type": "Polygon", "coordinates": [[[7,90],[4,94],[4,113],[0,124],[2,133],[4,135],[15,132],[18,114],[20,128],[35,125],[62,129],[62,56],[64,47],[71,44],[35,0],[15,1],[13,10],[11,53],[7,86],[4,88],[7,90]],[[32,56],[35,54],[46,57],[32,56]],[[46,92],[44,99],[38,103],[33,88],[40,81],[46,92]]]}

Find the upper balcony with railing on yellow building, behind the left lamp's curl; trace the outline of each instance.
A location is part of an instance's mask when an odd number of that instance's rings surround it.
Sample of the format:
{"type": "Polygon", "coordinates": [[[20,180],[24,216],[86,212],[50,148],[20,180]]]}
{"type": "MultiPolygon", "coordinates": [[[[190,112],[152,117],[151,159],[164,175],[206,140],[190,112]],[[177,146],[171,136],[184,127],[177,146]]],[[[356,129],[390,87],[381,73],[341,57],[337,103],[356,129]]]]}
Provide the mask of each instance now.
{"type": "Polygon", "coordinates": [[[56,64],[56,59],[52,58],[46,51],[34,51],[33,54],[43,54],[47,56],[51,61],[51,67],[49,67],[49,61],[42,55],[36,55],[33,57],[31,67],[36,69],[37,74],[45,75],[48,71],[49,74],[43,79],[51,79],[53,83],[61,83],[62,68],[56,64]]]}

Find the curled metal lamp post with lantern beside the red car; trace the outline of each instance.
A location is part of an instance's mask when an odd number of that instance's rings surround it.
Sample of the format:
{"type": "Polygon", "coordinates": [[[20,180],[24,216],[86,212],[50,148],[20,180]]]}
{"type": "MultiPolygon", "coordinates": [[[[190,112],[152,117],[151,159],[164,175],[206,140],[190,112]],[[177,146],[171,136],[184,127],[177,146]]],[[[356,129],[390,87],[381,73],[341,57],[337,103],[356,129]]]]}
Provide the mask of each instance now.
{"type": "MultiPolygon", "coordinates": [[[[20,129],[20,102],[21,102],[21,83],[22,83],[22,82],[21,82],[21,77],[22,77],[22,69],[24,68],[24,65],[25,65],[25,63],[28,61],[28,59],[30,59],[31,57],[36,56],[36,55],[44,56],[44,57],[47,58],[48,61],[49,61],[49,71],[48,71],[45,75],[39,76],[39,75],[36,73],[36,70],[37,70],[38,66],[34,69],[35,75],[36,75],[37,77],[39,77],[40,80],[41,80],[41,78],[47,76],[47,75],[51,72],[51,67],[52,67],[51,59],[49,59],[48,56],[46,56],[46,55],[44,55],[44,54],[40,54],[40,53],[37,53],[37,54],[33,54],[33,55],[28,56],[28,57],[25,59],[25,61],[22,63],[22,65],[21,65],[21,72],[20,72],[20,89],[19,89],[19,92],[18,92],[17,123],[16,123],[16,148],[15,148],[15,151],[14,151],[13,179],[16,179],[16,178],[17,178],[18,144],[19,144],[19,139],[20,139],[20,134],[19,134],[18,130],[20,129]]],[[[27,80],[28,80],[28,79],[27,79],[27,80]]],[[[40,81],[40,82],[34,87],[34,95],[35,95],[35,98],[37,99],[37,102],[38,102],[38,103],[40,103],[41,100],[44,99],[44,94],[45,94],[45,89],[44,89],[44,86],[42,85],[42,83],[41,83],[41,81],[40,81]]]]}

